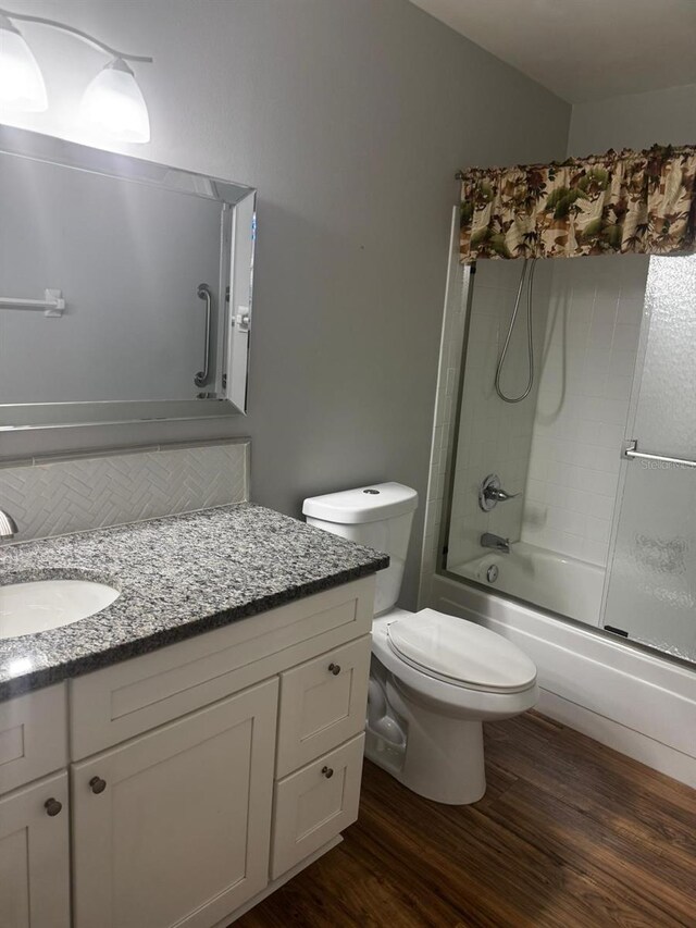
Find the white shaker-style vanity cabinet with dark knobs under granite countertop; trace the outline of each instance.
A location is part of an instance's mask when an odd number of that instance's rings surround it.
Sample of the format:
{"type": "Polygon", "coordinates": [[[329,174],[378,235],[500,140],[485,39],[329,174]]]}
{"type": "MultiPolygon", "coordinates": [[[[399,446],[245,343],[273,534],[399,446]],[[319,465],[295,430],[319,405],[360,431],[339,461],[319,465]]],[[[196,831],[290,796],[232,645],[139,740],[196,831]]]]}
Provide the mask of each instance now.
{"type": "Polygon", "coordinates": [[[373,597],[371,576],[0,703],[0,928],[221,928],[334,846],[373,597]]]}

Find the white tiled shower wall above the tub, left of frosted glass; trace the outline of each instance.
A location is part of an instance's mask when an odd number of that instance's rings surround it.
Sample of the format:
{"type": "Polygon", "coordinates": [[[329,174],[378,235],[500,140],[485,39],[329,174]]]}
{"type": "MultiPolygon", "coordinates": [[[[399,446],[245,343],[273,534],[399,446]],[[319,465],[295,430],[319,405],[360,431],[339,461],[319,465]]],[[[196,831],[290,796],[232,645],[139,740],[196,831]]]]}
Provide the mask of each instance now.
{"type": "MultiPolygon", "coordinates": [[[[521,264],[478,262],[456,449],[450,566],[482,553],[478,541],[484,531],[606,566],[647,269],[646,257],[632,255],[539,263],[534,317],[537,383],[529,400],[508,406],[495,396],[493,384],[521,264]],[[524,488],[523,508],[521,500],[511,500],[489,515],[481,511],[477,487],[492,471],[499,473],[510,492],[524,488]]],[[[457,409],[453,391],[467,322],[468,274],[455,253],[449,274],[421,607],[430,602],[439,556],[444,483],[457,409]],[[451,404],[445,401],[450,395],[451,404]]],[[[521,323],[519,319],[510,348],[513,360],[504,380],[511,393],[526,382],[521,323]]]]}

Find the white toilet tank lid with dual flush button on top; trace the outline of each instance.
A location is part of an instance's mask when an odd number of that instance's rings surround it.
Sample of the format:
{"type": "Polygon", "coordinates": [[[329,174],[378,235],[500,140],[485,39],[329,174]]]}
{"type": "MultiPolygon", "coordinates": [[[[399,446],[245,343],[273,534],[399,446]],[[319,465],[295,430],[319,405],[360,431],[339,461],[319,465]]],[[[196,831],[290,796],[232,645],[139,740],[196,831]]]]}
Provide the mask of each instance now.
{"type": "Polygon", "coordinates": [[[312,519],[349,525],[376,522],[413,512],[418,493],[402,483],[372,483],[339,493],[311,496],[304,500],[302,512],[312,519]]]}

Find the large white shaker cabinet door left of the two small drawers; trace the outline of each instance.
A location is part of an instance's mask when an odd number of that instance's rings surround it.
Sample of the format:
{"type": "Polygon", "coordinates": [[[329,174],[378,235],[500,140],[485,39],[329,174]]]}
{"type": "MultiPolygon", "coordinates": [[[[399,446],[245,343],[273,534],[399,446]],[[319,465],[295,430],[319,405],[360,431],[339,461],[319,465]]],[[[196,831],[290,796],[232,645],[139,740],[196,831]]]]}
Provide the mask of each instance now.
{"type": "Polygon", "coordinates": [[[277,680],[73,766],[75,928],[209,928],[268,882],[277,680]]]}

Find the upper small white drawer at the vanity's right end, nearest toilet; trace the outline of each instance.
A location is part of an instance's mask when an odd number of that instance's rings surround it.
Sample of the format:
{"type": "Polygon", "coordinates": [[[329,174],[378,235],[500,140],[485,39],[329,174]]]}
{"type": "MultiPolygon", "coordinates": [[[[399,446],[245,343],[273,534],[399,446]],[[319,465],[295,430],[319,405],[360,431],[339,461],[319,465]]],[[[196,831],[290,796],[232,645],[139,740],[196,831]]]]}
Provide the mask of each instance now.
{"type": "Polygon", "coordinates": [[[363,730],[371,642],[365,635],[281,675],[278,778],[363,730]]]}

